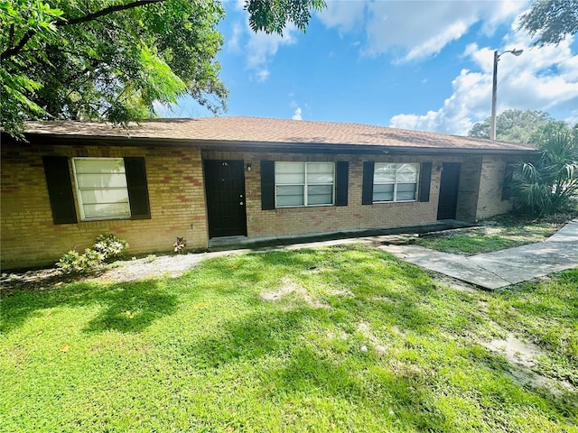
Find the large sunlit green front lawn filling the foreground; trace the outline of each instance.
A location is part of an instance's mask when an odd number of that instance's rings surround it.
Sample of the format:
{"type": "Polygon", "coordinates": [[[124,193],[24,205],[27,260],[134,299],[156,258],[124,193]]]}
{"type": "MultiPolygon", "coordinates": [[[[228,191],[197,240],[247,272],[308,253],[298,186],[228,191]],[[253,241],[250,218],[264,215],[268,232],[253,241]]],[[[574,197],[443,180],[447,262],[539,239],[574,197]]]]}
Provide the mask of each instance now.
{"type": "Polygon", "coordinates": [[[481,344],[514,332],[544,350],[540,373],[578,385],[576,287],[573,270],[459,291],[358,245],[16,291],[0,431],[576,432],[575,393],[517,384],[481,344]]]}

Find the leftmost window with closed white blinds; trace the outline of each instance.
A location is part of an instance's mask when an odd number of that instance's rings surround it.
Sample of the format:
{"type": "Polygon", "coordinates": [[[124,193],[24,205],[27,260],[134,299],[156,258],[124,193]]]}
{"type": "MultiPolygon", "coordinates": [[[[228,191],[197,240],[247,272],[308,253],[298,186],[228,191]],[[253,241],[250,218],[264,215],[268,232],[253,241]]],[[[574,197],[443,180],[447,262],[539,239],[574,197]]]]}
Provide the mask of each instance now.
{"type": "Polygon", "coordinates": [[[122,158],[74,158],[72,162],[80,219],[131,216],[122,158]]]}

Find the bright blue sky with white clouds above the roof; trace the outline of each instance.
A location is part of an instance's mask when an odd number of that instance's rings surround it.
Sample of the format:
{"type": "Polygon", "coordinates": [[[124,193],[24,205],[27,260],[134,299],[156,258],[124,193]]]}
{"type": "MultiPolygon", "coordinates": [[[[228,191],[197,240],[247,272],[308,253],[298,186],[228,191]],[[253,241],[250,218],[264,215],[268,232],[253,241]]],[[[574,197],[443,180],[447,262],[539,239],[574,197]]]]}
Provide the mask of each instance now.
{"type": "MultiPolygon", "coordinates": [[[[375,124],[466,135],[491,106],[542,110],[578,122],[578,41],[532,45],[517,19],[528,1],[326,0],[305,33],[252,32],[244,2],[224,2],[218,60],[228,111],[299,120],[375,124]]],[[[163,116],[211,115],[191,97],[163,116]]]]}

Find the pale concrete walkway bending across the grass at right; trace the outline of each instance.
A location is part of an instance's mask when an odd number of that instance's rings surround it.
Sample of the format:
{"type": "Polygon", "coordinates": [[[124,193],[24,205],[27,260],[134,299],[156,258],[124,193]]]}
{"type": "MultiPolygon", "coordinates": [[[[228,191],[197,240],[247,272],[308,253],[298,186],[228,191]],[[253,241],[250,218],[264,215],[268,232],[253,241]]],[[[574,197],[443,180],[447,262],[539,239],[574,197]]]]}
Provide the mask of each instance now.
{"type": "Polygon", "coordinates": [[[494,253],[464,256],[417,245],[383,245],[380,248],[406,262],[494,290],[578,267],[578,219],[544,242],[494,253]]]}

